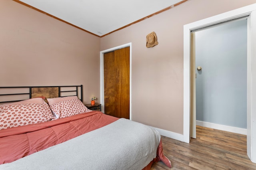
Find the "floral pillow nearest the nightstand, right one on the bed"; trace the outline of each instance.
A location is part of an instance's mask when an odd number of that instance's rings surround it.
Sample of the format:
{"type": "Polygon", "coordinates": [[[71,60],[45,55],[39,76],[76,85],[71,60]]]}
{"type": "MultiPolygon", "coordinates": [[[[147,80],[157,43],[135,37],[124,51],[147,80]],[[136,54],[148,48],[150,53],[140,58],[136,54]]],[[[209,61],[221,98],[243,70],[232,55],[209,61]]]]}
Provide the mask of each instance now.
{"type": "Polygon", "coordinates": [[[79,99],[60,101],[51,105],[50,108],[57,119],[91,111],[79,99]]]}

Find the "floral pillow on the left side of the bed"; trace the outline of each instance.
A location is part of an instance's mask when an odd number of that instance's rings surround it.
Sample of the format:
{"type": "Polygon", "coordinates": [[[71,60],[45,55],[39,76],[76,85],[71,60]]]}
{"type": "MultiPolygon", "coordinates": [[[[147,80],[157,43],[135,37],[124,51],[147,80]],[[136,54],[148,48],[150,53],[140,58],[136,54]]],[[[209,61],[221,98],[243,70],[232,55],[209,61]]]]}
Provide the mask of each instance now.
{"type": "Polygon", "coordinates": [[[0,107],[0,129],[55,119],[47,104],[28,103],[0,107]]]}

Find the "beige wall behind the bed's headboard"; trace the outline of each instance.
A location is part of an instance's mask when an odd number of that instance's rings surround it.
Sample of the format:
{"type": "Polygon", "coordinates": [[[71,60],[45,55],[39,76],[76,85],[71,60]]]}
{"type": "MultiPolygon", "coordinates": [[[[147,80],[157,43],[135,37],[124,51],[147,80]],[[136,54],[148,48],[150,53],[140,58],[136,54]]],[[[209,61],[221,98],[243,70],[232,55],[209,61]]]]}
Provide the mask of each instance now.
{"type": "Polygon", "coordinates": [[[100,97],[100,38],[0,0],[0,86],[84,85],[100,97]]]}

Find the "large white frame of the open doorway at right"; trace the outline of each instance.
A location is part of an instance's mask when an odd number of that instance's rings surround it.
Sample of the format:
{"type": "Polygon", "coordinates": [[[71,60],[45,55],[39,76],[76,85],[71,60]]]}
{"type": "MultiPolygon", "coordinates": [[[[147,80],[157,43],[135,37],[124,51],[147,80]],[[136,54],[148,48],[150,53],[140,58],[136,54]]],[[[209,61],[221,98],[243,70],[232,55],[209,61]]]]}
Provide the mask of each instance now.
{"type": "Polygon", "coordinates": [[[190,33],[229,20],[248,16],[247,26],[247,154],[256,163],[256,4],[184,25],[183,141],[190,142],[190,33]],[[254,132],[254,133],[253,133],[254,132]]]}

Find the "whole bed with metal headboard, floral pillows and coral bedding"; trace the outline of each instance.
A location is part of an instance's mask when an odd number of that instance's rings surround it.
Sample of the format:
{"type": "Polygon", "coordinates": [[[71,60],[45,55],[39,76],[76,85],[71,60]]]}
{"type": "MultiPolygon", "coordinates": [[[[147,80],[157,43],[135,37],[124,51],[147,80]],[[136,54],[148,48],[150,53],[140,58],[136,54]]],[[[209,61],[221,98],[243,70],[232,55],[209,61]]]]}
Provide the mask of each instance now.
{"type": "Polygon", "coordinates": [[[171,168],[159,132],[89,110],[82,89],[0,87],[0,169],[171,168]]]}

